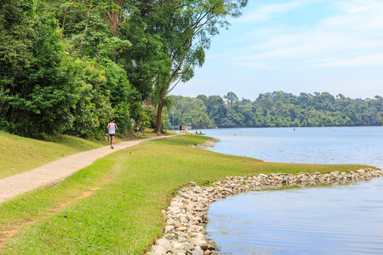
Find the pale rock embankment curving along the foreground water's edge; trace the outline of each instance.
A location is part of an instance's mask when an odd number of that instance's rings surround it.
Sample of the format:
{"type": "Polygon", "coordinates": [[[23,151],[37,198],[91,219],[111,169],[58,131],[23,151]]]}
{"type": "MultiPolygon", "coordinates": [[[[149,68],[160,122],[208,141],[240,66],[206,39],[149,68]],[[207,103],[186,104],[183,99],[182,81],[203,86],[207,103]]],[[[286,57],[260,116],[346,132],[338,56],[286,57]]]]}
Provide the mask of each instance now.
{"type": "Polygon", "coordinates": [[[267,188],[345,183],[382,176],[382,170],[360,169],[350,173],[333,171],[330,174],[227,176],[213,183],[212,187],[205,188],[190,182],[191,187],[181,188],[168,210],[162,210],[166,220],[165,232],[147,255],[218,255],[219,252],[215,250],[217,244],[206,239],[205,229],[209,205],[218,199],[267,188]]]}

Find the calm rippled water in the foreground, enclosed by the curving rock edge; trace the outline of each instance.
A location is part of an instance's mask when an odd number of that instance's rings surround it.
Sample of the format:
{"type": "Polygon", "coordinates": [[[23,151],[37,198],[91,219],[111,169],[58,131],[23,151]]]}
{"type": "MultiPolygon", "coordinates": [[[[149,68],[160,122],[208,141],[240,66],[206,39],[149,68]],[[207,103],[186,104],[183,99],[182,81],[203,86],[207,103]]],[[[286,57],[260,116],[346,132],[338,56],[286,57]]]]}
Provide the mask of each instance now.
{"type": "Polygon", "coordinates": [[[383,254],[383,179],[218,200],[206,229],[222,254],[383,254]]]}

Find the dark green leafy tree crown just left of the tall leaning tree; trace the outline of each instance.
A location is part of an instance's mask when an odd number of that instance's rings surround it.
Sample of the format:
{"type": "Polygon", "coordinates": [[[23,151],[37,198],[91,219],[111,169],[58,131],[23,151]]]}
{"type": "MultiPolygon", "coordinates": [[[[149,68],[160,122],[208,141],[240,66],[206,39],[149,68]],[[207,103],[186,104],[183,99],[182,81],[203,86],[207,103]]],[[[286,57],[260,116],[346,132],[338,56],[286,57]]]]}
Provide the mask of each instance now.
{"type": "Polygon", "coordinates": [[[121,23],[119,35],[128,38],[130,47],[118,54],[130,83],[138,91],[138,100],[146,101],[153,92],[153,82],[165,66],[162,40],[150,24],[156,22],[157,8],[152,1],[126,0],[123,9],[128,13],[121,23]]]}

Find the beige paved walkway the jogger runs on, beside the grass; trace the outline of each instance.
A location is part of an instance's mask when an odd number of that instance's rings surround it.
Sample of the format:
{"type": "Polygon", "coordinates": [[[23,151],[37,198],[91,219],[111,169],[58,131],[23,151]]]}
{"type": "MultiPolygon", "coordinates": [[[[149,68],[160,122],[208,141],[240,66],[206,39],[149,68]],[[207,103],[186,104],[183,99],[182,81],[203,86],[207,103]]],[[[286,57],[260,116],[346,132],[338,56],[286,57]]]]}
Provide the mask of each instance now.
{"type": "MultiPolygon", "coordinates": [[[[172,137],[168,135],[166,137],[172,137]]],[[[0,203],[9,200],[14,196],[18,196],[26,191],[33,191],[35,188],[52,183],[70,176],[76,171],[89,166],[96,159],[100,159],[108,154],[117,152],[120,149],[125,149],[140,142],[157,140],[166,137],[150,137],[142,140],[134,140],[128,142],[120,142],[114,145],[114,149],[110,146],[91,149],[87,152],[79,152],[71,156],[59,159],[55,162],[50,162],[38,168],[25,171],[21,174],[16,174],[4,179],[0,179],[0,203]]]]}

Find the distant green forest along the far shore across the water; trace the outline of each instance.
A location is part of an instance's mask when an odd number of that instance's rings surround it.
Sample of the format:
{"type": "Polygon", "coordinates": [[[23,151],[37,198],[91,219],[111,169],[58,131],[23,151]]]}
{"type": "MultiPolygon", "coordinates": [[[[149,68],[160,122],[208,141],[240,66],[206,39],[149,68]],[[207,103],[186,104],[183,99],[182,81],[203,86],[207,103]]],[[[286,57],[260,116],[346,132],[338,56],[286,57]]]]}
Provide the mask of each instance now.
{"type": "Polygon", "coordinates": [[[167,127],[190,123],[192,128],[262,128],[382,125],[383,97],[346,98],[327,92],[283,91],[260,94],[255,101],[226,96],[172,96],[167,127]]]}

